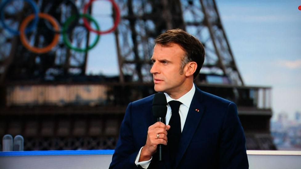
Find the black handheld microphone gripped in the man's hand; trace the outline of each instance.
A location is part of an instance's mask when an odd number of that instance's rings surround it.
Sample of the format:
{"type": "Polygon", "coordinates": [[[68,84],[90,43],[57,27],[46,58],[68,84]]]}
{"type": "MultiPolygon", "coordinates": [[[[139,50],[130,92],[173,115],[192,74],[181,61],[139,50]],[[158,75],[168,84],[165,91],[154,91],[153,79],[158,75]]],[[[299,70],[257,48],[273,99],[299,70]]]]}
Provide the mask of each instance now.
{"type": "MultiPolygon", "coordinates": [[[[153,99],[153,115],[158,118],[158,122],[165,124],[167,112],[167,101],[164,93],[156,93],[153,99]]],[[[158,145],[159,161],[162,161],[162,144],[158,145]]]]}

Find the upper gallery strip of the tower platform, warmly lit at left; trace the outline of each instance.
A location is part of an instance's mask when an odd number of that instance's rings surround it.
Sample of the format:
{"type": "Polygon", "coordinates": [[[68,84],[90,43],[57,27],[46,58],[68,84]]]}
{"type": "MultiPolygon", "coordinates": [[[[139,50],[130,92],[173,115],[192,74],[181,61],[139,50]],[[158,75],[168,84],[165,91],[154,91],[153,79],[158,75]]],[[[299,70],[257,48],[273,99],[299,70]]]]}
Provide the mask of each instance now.
{"type": "MultiPolygon", "coordinates": [[[[197,86],[241,107],[271,108],[270,87],[202,83],[197,86]]],[[[144,83],[14,85],[6,87],[5,106],[127,105],[154,93],[153,84],[144,83]]]]}

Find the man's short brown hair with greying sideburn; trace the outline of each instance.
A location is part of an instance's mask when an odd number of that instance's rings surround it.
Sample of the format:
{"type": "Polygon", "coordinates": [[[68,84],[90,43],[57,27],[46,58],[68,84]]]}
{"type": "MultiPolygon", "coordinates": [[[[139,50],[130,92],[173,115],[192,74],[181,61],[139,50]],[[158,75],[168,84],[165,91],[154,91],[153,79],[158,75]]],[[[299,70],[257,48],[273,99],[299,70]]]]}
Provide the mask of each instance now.
{"type": "Polygon", "coordinates": [[[181,71],[188,62],[196,62],[197,70],[193,74],[193,79],[200,73],[205,60],[205,49],[203,44],[193,35],[181,29],[167,30],[155,39],[155,43],[162,46],[169,46],[170,43],[180,45],[186,52],[182,59],[181,71]]]}

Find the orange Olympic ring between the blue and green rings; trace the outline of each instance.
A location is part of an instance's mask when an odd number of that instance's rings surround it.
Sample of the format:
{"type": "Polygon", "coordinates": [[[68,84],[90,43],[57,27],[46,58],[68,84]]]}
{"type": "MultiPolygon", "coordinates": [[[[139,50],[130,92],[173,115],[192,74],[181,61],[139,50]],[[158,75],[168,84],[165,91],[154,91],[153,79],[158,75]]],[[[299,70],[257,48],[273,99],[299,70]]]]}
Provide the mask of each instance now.
{"type": "MultiPolygon", "coordinates": [[[[56,31],[59,31],[59,24],[58,22],[55,20],[55,18],[53,18],[51,15],[45,14],[45,13],[39,13],[38,16],[40,18],[44,18],[47,19],[55,28],[56,31]]],[[[46,53],[48,51],[50,51],[58,42],[59,42],[59,34],[55,34],[53,41],[46,47],[43,48],[37,48],[34,46],[31,46],[26,38],[25,35],[25,28],[28,25],[28,23],[33,20],[35,18],[34,14],[29,15],[28,17],[26,17],[23,22],[21,23],[20,26],[20,38],[21,38],[21,42],[22,44],[30,51],[35,52],[35,53],[46,53]]]]}

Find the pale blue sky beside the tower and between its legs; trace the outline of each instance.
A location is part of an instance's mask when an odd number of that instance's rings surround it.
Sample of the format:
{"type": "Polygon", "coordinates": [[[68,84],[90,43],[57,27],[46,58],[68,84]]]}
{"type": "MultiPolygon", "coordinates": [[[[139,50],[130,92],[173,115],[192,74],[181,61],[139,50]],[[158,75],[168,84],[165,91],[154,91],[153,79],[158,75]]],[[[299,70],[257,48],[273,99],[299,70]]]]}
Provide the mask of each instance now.
{"type": "MultiPolygon", "coordinates": [[[[272,87],[273,119],[301,112],[301,5],[299,0],[216,0],[236,64],[246,86],[272,87]]],[[[110,2],[95,1],[101,30],[112,26],[110,2]]],[[[92,34],[90,40],[93,40],[92,34]]],[[[87,74],[118,74],[114,34],[88,53],[87,74]]]]}

